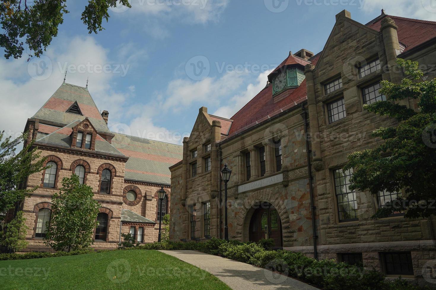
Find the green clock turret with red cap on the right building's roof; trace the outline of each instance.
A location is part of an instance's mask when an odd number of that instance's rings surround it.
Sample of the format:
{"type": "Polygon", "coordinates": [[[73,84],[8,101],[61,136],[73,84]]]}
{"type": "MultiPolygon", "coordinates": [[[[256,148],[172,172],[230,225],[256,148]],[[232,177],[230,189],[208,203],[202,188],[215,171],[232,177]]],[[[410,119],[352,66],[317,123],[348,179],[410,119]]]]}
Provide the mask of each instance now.
{"type": "Polygon", "coordinates": [[[276,96],[288,89],[299,87],[305,78],[304,66],[308,63],[310,61],[289,52],[286,60],[268,76],[269,82],[272,83],[272,95],[276,96]]]}

